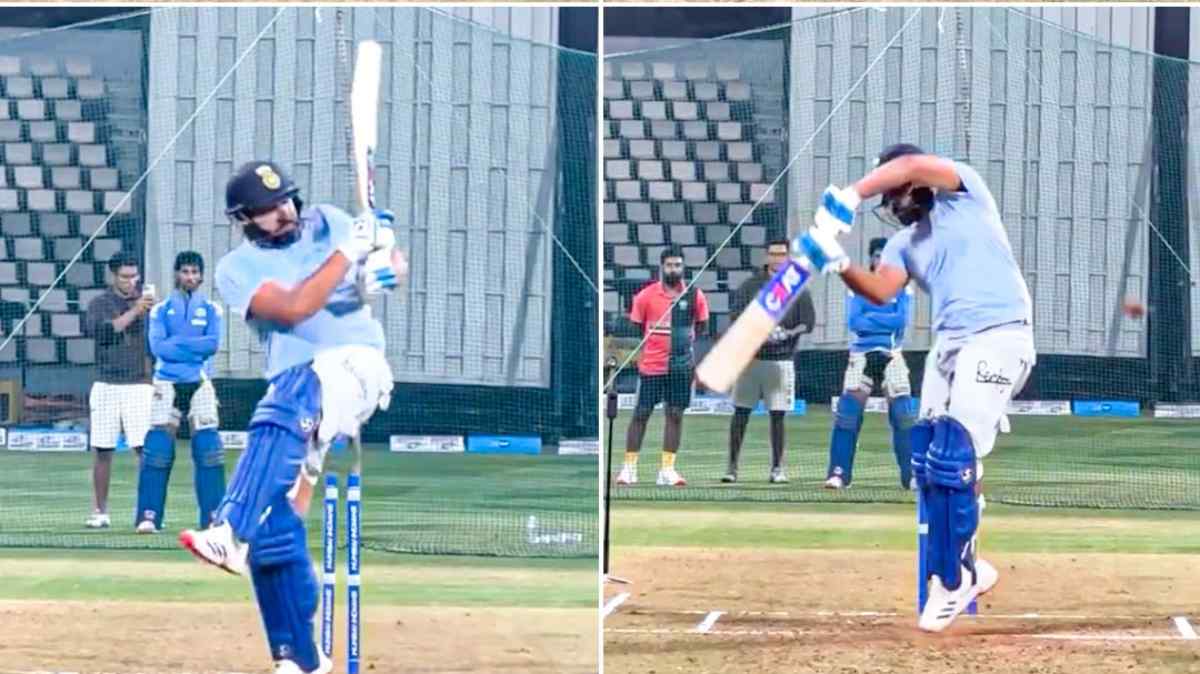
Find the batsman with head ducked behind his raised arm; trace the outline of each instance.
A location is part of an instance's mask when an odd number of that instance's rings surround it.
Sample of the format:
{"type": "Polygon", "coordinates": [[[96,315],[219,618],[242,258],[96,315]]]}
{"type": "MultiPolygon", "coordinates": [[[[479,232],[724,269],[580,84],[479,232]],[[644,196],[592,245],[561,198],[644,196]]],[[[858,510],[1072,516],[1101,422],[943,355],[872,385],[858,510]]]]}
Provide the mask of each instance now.
{"type": "Polygon", "coordinates": [[[1008,402],[1037,360],[1030,291],[996,200],[970,166],[892,145],[858,182],[826,189],[793,253],[876,305],[904,291],[908,279],[932,300],[935,339],[911,441],[929,519],[929,600],[918,626],[942,631],[998,578],[976,556],[979,479],[1008,402]],[[850,263],[838,235],[850,231],[859,203],[876,195],[875,212],[901,229],[871,271],[850,263]]]}

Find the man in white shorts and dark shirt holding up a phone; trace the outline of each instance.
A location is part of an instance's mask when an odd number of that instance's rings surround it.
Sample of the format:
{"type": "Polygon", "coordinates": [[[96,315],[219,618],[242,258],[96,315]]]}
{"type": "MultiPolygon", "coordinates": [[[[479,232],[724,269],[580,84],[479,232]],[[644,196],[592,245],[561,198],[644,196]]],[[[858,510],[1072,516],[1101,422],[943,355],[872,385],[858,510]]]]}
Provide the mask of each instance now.
{"type": "Polygon", "coordinates": [[[91,417],[91,468],[94,503],[89,529],[112,525],[108,517],[108,485],[113,475],[113,450],[125,431],[125,443],[140,463],[142,445],[150,431],[150,362],[146,357],[145,314],[154,295],[142,291],[138,260],[118,253],[108,260],[109,288],[88,305],[84,331],[96,341],[96,381],[88,396],[91,417]]]}

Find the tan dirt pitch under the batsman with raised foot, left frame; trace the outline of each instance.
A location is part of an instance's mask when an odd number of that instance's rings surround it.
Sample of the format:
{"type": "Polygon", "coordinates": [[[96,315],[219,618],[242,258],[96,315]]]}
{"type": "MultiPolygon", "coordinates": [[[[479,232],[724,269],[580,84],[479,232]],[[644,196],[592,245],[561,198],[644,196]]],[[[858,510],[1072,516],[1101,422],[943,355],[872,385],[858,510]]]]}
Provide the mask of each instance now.
{"type": "MultiPolygon", "coordinates": [[[[364,673],[596,672],[593,609],[366,607],[362,619],[364,673]]],[[[271,670],[248,604],[0,601],[0,674],[271,670]]]]}

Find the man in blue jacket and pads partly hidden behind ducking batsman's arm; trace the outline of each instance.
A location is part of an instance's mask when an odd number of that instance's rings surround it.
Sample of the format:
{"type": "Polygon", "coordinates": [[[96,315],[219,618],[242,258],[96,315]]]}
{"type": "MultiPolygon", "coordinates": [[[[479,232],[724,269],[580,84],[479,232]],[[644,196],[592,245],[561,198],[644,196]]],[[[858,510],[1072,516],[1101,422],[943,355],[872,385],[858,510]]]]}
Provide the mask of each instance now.
{"type": "MultiPolygon", "coordinates": [[[[882,237],[871,239],[868,249],[872,270],[887,242],[882,237]]],[[[829,468],[826,470],[826,487],[829,489],[850,487],[853,477],[858,432],[863,428],[866,399],[876,381],[875,377],[868,374],[868,367],[874,374],[878,374],[882,367],[882,387],[888,398],[888,423],[892,426],[892,451],[900,467],[900,485],[911,488],[912,445],[908,433],[917,417],[917,403],[912,398],[908,366],[900,350],[911,300],[912,290],[907,288],[882,306],[874,305],[853,291],[846,297],[846,321],[851,333],[850,362],[842,380],[841,397],[838,398],[838,409],[833,415],[829,468]]]]}

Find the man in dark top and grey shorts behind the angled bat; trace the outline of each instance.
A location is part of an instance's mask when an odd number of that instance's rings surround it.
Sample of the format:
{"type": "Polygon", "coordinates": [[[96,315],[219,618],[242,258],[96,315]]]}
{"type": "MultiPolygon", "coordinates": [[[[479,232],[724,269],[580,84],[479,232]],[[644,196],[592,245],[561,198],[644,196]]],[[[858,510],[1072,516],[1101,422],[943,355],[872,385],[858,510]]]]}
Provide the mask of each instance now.
{"type": "MultiPolygon", "coordinates": [[[[786,239],[767,243],[767,264],[746,278],[730,297],[730,319],[738,315],[754,301],[758,290],[770,281],[779,267],[787,261],[788,243],[786,239]]],[[[730,465],[721,482],[738,481],[738,457],[742,453],[742,440],[750,423],[750,413],[758,401],[763,402],[770,415],[770,473],[767,481],[773,485],[787,482],[784,473],[784,447],[786,444],[785,416],[796,404],[796,365],[792,354],[800,335],[812,332],[816,320],[812,308],[812,296],[808,291],[787,309],[784,320],[772,331],[767,343],[758,349],[750,367],[733,384],[733,419],[730,421],[730,465]]]]}

